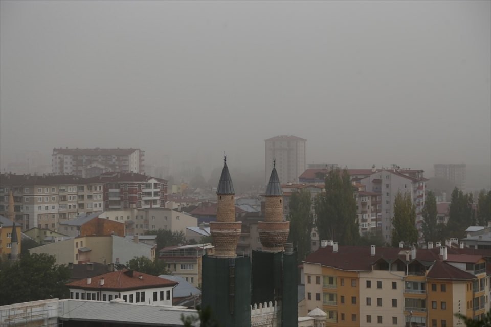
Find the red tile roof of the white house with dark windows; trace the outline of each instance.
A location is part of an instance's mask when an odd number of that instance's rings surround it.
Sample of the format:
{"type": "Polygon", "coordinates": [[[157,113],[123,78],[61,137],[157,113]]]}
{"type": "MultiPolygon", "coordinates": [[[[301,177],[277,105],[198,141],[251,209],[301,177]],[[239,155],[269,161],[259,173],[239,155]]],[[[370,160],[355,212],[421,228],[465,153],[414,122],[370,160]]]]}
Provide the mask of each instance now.
{"type": "Polygon", "coordinates": [[[84,290],[117,290],[129,291],[153,287],[168,287],[177,285],[177,282],[169,281],[160,277],[144,274],[129,269],[109,272],[97,277],[91,278],[91,283],[87,284],[87,279],[81,279],[66,284],[69,288],[84,290]],[[132,272],[132,273],[131,273],[132,272]],[[142,276],[142,278],[140,278],[142,276]],[[104,285],[100,285],[101,279],[104,278],[104,285]]]}

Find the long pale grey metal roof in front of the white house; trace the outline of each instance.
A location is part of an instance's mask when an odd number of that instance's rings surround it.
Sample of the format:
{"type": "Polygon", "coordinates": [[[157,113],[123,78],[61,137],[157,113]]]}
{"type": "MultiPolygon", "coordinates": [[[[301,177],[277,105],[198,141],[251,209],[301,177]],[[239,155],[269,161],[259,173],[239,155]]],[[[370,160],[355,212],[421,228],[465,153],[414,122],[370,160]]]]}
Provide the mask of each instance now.
{"type": "MultiPolygon", "coordinates": [[[[176,327],[182,326],[181,315],[197,316],[196,310],[180,307],[111,303],[102,301],[61,300],[60,319],[176,327]]],[[[199,326],[199,321],[193,324],[199,326]]]]}

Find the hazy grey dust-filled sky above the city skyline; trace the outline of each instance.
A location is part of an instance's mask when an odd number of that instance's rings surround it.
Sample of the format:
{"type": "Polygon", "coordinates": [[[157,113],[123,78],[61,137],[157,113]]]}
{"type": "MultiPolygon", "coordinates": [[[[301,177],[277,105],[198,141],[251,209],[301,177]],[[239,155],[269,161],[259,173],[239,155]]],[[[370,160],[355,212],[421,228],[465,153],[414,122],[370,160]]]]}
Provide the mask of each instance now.
{"type": "Polygon", "coordinates": [[[0,2],[0,164],[140,147],[264,167],[491,162],[490,1],[0,2]]]}

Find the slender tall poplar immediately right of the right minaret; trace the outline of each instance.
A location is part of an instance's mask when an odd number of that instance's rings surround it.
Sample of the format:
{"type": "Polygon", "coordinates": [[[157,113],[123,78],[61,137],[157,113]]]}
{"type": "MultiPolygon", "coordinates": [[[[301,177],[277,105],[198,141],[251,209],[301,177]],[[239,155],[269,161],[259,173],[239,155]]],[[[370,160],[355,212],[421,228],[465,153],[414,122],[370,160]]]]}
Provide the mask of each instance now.
{"type": "Polygon", "coordinates": [[[297,247],[297,258],[301,262],[310,252],[310,235],[314,225],[310,211],[312,206],[310,192],[301,190],[300,192],[292,193],[289,206],[290,233],[288,242],[292,242],[294,247],[297,247]]]}

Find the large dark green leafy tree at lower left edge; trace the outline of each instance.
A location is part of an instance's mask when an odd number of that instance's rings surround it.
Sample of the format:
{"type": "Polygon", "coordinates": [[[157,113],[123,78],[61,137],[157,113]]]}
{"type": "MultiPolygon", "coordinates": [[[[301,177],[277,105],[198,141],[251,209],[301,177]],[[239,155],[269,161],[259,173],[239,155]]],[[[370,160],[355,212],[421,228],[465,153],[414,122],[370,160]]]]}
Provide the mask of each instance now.
{"type": "Polygon", "coordinates": [[[67,298],[70,270],[48,254],[26,254],[0,263],[0,305],[67,298]]]}

